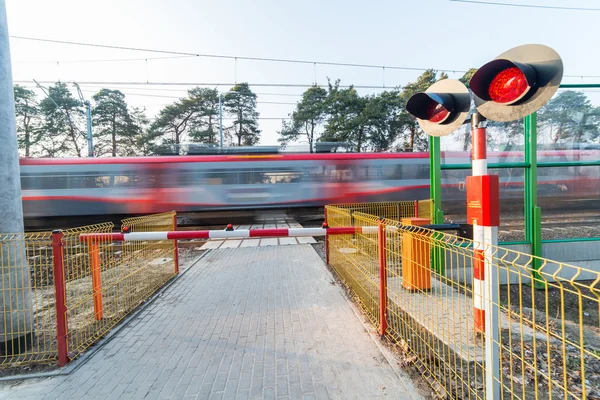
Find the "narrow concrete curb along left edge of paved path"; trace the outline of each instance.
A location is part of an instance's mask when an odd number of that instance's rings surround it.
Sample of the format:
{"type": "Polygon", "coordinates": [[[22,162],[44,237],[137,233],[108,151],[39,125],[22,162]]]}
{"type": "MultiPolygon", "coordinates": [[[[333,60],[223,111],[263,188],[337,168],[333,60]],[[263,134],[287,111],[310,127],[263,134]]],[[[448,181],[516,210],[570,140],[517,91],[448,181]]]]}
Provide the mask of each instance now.
{"type": "Polygon", "coordinates": [[[79,367],[87,362],[94,354],[96,354],[101,348],[103,348],[108,342],[110,342],[117,333],[119,333],[123,328],[125,328],[131,321],[137,318],[148,306],[154,303],[161,295],[166,292],[175,282],[178,282],[182,276],[184,276],[187,271],[192,269],[200,260],[202,260],[208,253],[209,250],[205,250],[189,267],[187,267],[183,272],[181,272],[176,277],[172,278],[169,282],[167,282],[163,287],[157,290],[148,300],[144,303],[140,304],[131,314],[129,314],[123,321],[121,321],[117,326],[115,326],[109,333],[107,333],[103,338],[98,340],[94,345],[89,348],[89,351],[86,351],[81,356],[77,357],[75,360],[70,362],[64,368],[48,371],[48,372],[38,372],[33,374],[21,374],[21,375],[11,375],[4,376],[0,378],[0,382],[9,382],[9,381],[22,381],[28,379],[41,379],[41,378],[51,378],[54,376],[61,375],[70,375],[75,372],[79,367]]]}

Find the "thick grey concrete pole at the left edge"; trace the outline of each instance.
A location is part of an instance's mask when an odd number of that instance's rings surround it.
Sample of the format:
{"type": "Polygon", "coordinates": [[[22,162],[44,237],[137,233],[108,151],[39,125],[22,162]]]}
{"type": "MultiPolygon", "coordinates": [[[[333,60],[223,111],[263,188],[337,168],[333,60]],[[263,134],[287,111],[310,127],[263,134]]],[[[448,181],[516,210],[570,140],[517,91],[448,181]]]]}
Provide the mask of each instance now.
{"type": "Polygon", "coordinates": [[[0,349],[14,354],[31,342],[32,302],[5,0],[0,0],[0,143],[0,349]],[[3,240],[4,233],[17,235],[3,240]]]}

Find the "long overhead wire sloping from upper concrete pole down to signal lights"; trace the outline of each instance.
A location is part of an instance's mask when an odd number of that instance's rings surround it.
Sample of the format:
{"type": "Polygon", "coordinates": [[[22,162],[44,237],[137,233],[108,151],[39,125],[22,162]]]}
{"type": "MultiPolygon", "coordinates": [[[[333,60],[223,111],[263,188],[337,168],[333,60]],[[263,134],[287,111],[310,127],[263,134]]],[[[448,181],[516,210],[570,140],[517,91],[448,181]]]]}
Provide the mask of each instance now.
{"type": "MultiPolygon", "coordinates": [[[[149,52],[149,53],[174,54],[174,55],[180,55],[180,56],[222,58],[222,59],[228,59],[228,60],[283,62],[283,63],[295,63],[295,64],[310,64],[313,66],[319,64],[319,65],[333,65],[333,66],[355,67],[355,68],[386,68],[386,69],[397,69],[397,70],[406,70],[406,71],[426,71],[428,69],[431,69],[431,68],[417,68],[417,67],[399,67],[399,66],[389,66],[389,65],[339,63],[339,62],[329,62],[329,61],[293,60],[293,59],[285,59],[285,58],[240,57],[240,56],[228,56],[228,55],[220,55],[220,54],[200,54],[200,53],[190,53],[190,52],[184,52],[184,51],[143,49],[143,48],[138,48],[138,47],[113,46],[113,45],[95,44],[95,43],[72,42],[72,41],[68,41],[68,40],[43,39],[43,38],[34,38],[34,37],[27,37],[27,36],[10,36],[10,37],[13,39],[32,40],[32,41],[46,42],[46,43],[60,43],[60,44],[68,44],[68,45],[75,45],[75,46],[100,47],[100,48],[104,48],[104,49],[116,49],[116,50],[145,51],[145,52],[149,52]]],[[[457,70],[457,69],[443,69],[440,71],[453,71],[453,72],[463,72],[463,73],[467,72],[466,70],[463,71],[463,70],[457,70]]]]}

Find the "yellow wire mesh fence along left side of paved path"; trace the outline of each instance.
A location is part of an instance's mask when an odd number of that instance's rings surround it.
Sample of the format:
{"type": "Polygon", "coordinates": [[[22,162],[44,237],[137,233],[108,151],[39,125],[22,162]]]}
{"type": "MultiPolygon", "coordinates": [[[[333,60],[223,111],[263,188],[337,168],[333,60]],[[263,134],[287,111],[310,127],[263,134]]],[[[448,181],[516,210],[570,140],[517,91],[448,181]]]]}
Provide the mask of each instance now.
{"type": "MultiPolygon", "coordinates": [[[[132,232],[171,231],[175,218],[164,213],[123,225],[132,232]]],[[[80,240],[113,228],[0,235],[0,367],[57,359],[64,365],[176,275],[173,241],[80,240]]]]}

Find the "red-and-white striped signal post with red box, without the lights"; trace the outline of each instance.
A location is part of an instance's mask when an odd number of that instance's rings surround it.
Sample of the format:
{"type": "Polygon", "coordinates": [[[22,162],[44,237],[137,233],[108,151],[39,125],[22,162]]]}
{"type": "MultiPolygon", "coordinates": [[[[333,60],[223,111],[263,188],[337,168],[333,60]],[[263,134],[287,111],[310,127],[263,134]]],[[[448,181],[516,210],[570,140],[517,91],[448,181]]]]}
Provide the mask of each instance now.
{"type": "Polygon", "coordinates": [[[474,323],[475,331],[485,334],[486,391],[499,395],[499,286],[493,264],[500,225],[499,179],[487,173],[485,118],[474,113],[471,124],[473,176],[467,177],[467,221],[473,225],[474,323]]]}

